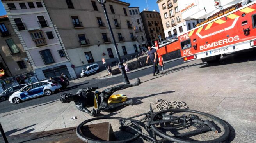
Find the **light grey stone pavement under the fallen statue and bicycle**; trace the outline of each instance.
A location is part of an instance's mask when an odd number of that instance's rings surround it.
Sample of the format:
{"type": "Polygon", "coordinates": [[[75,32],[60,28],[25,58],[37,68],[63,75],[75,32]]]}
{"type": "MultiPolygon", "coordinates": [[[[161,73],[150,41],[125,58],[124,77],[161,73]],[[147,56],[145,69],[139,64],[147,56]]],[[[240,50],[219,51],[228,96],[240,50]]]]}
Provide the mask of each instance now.
{"type": "MultiPolygon", "coordinates": [[[[192,110],[226,120],[235,129],[232,143],[256,142],[255,67],[256,61],[212,66],[201,60],[183,63],[165,69],[165,75],[140,77],[142,85],[116,92],[132,98],[134,105],[114,113],[101,112],[100,116],[131,117],[149,111],[149,103],[155,103],[156,99],[180,100],[192,110]]],[[[0,114],[7,136],[75,127],[91,118],[77,110],[74,103],[64,104],[59,100],[0,114]],[[71,116],[77,119],[70,120],[71,116]]]]}

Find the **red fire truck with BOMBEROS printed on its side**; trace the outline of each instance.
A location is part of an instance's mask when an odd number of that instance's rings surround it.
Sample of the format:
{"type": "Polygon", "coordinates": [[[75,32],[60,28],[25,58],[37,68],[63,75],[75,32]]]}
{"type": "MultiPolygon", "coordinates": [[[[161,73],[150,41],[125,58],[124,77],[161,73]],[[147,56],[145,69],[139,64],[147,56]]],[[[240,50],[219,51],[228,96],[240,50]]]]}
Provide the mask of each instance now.
{"type": "Polygon", "coordinates": [[[157,46],[157,53],[160,65],[162,55],[178,49],[184,61],[202,59],[211,63],[219,61],[222,54],[255,47],[256,1],[244,6],[237,3],[220,10],[194,29],[178,35],[176,42],[164,47],[157,46]]]}

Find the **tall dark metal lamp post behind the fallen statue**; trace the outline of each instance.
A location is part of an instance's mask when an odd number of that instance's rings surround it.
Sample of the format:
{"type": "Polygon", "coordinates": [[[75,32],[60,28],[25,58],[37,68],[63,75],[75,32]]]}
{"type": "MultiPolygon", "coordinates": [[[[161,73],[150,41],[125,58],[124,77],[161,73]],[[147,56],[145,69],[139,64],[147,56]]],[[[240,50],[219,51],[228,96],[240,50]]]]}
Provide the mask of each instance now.
{"type": "Polygon", "coordinates": [[[107,19],[108,27],[109,27],[109,30],[110,30],[110,33],[111,33],[111,36],[112,36],[112,39],[113,39],[114,47],[115,47],[115,50],[116,50],[116,55],[117,55],[117,59],[118,59],[118,68],[120,68],[120,71],[123,75],[124,84],[129,84],[130,82],[129,82],[128,77],[126,75],[126,72],[124,70],[123,62],[120,59],[120,54],[119,54],[119,51],[117,49],[116,40],[115,40],[111,25],[110,25],[110,22],[109,22],[109,19],[108,19],[108,14],[107,14],[106,7],[105,7],[106,0],[97,0],[97,1],[101,4],[101,7],[102,7],[102,9],[105,13],[106,19],[107,19]]]}

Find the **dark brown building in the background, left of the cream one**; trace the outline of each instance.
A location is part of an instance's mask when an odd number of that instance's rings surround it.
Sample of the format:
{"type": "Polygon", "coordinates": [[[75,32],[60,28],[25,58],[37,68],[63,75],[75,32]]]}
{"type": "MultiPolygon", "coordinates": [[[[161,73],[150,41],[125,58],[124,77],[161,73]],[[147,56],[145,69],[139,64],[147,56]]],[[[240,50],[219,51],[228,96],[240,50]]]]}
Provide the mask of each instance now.
{"type": "Polygon", "coordinates": [[[161,40],[164,40],[165,36],[159,12],[144,10],[140,15],[148,44],[155,45],[156,40],[160,42],[159,36],[161,37],[161,40]]]}

